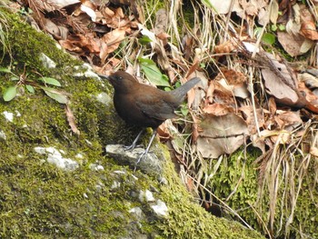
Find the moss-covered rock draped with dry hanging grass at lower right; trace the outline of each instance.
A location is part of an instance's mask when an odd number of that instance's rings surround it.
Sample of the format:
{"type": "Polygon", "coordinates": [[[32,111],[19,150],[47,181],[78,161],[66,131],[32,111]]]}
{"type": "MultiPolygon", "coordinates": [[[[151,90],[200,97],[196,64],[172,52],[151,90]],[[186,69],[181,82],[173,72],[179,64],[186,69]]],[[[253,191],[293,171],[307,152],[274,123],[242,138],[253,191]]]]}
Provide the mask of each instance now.
{"type": "MultiPolygon", "coordinates": [[[[260,151],[249,148],[245,155],[246,158],[242,150],[224,157],[206,186],[263,234],[272,234],[275,238],[316,238],[318,194],[314,189],[316,173],[313,170],[317,167],[316,161],[299,155],[297,160],[291,158],[289,162],[273,159],[271,164],[265,160],[255,164],[260,151]]],[[[225,216],[235,218],[231,213],[225,216]]]]}

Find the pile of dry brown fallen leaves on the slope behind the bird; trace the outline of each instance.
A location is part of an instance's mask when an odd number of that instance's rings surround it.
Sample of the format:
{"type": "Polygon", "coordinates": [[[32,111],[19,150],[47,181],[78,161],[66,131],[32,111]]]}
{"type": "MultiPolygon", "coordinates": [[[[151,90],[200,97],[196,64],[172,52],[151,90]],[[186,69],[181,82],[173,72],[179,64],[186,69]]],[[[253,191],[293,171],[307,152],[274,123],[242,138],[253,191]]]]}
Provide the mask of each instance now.
{"type": "MultiPolygon", "coordinates": [[[[169,27],[175,25],[164,9],[152,12],[155,20],[149,28],[144,19],[150,16],[134,1],[25,0],[23,4],[33,10],[39,28],[98,73],[124,68],[137,75],[141,72],[151,84],[163,87],[199,76],[201,85],[188,95],[193,144],[205,158],[216,158],[232,154],[248,142],[265,153],[278,143],[278,134],[283,134],[279,144],[286,144],[294,129],[301,134],[301,125],[318,113],[317,70],[295,67],[297,64],[287,63],[265,45],[277,37],[290,56],[312,50],[318,39],[314,15],[300,2],[269,2],[203,1],[205,11],[234,13],[246,23],[253,23],[256,17],[258,25],[270,25],[276,33],[263,33],[269,38],[257,41],[262,35],[255,35],[255,25],[240,28],[230,22],[226,25],[229,34],[220,37],[213,49],[199,47],[202,33],[197,29],[194,35],[172,39],[169,27]],[[228,55],[234,59],[230,64],[224,63],[228,55]],[[213,59],[214,66],[204,68],[206,59],[213,59]],[[214,74],[208,74],[211,70],[214,74]]],[[[159,133],[171,137],[166,124],[159,133]]],[[[176,154],[180,153],[178,147],[183,145],[174,138],[176,154]]]]}

